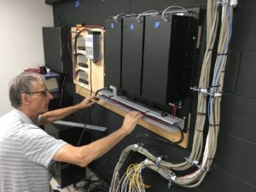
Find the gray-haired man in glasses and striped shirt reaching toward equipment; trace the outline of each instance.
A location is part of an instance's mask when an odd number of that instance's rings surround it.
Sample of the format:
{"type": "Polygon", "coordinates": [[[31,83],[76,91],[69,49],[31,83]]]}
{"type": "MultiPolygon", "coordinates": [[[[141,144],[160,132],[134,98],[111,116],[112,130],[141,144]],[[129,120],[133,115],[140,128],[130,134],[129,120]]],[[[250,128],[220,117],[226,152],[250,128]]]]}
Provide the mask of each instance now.
{"type": "Polygon", "coordinates": [[[131,133],[142,117],[137,112],[128,113],[119,130],[81,147],[55,139],[38,128],[38,125],[89,107],[95,103],[93,98],[90,96],[73,107],[47,112],[52,96],[46,88],[44,76],[21,73],[13,79],[9,99],[14,109],[0,118],[0,191],[49,191],[47,167],[50,160],[87,166],[131,133]]]}

